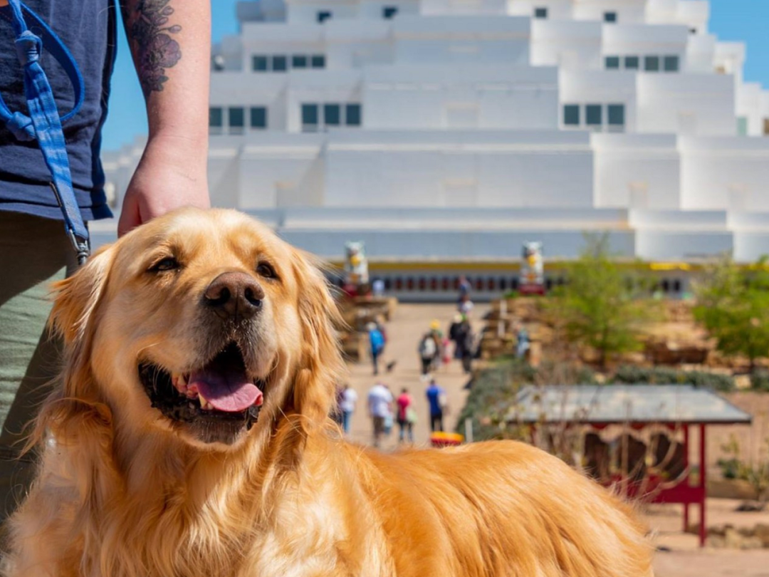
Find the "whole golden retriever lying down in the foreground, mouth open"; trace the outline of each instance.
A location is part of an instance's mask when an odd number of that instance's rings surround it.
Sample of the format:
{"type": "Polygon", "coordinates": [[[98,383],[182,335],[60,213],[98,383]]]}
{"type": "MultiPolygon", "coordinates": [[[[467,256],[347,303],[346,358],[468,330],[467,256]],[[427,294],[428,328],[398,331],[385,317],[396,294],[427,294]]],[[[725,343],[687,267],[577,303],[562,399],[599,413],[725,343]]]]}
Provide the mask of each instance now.
{"type": "Polygon", "coordinates": [[[651,575],[631,510],[538,449],[341,439],[325,278],[246,215],[157,218],[55,292],[12,577],[651,575]]]}

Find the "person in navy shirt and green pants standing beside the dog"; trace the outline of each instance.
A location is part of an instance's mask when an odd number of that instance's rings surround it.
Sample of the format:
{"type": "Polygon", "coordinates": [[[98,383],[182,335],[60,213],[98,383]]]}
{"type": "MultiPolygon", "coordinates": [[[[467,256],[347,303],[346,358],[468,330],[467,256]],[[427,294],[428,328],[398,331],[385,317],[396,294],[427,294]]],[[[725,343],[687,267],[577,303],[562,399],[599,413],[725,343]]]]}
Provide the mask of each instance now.
{"type": "MultiPolygon", "coordinates": [[[[99,155],[118,44],[118,6],[149,128],[144,154],[125,189],[118,235],[181,206],[208,207],[210,0],[25,3],[58,35],[80,68],[82,105],[62,122],[62,132],[83,220],[112,216],[99,155]]],[[[28,103],[12,18],[7,0],[0,0],[0,94],[12,112],[20,113],[14,117],[18,121],[28,115],[28,103]]],[[[73,95],[68,73],[45,50],[38,62],[56,108],[69,114],[78,91],[73,95]]],[[[55,129],[56,123],[48,126],[55,129]]],[[[59,365],[61,342],[46,329],[52,307],[48,292],[52,282],[71,275],[78,265],[37,138],[19,142],[16,135],[26,139],[29,131],[0,122],[0,521],[20,502],[32,477],[32,453],[19,450],[23,431],[50,391],[48,383],[59,365]]],[[[63,158],[56,158],[58,165],[64,165],[63,158]]]]}

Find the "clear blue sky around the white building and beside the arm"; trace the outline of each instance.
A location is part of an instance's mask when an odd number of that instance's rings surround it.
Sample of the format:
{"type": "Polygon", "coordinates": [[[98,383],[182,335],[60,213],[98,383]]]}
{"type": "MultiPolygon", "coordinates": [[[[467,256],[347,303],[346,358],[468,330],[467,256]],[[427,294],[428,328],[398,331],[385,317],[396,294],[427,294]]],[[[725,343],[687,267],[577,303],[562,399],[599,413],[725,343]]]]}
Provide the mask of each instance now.
{"type": "MultiPolygon", "coordinates": [[[[222,36],[236,34],[237,0],[211,0],[211,34],[214,42],[222,36]]],[[[711,0],[710,31],[720,40],[747,44],[745,80],[760,82],[769,88],[769,2],[767,0],[711,0]]],[[[147,132],[144,98],[134,72],[125,35],[118,45],[118,60],[112,75],[110,114],[103,129],[103,148],[114,150],[133,142],[135,136],[147,132]]]]}

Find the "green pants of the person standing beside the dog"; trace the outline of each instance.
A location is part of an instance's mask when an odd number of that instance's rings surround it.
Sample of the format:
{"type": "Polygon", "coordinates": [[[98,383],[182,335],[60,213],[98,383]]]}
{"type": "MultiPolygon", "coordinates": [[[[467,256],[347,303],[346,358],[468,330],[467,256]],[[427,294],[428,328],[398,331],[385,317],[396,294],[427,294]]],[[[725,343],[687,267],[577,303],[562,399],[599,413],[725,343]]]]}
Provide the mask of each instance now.
{"type": "Polygon", "coordinates": [[[76,265],[62,222],[0,210],[0,522],[31,482],[32,455],[19,450],[60,362],[46,329],[50,285],[76,265]]]}

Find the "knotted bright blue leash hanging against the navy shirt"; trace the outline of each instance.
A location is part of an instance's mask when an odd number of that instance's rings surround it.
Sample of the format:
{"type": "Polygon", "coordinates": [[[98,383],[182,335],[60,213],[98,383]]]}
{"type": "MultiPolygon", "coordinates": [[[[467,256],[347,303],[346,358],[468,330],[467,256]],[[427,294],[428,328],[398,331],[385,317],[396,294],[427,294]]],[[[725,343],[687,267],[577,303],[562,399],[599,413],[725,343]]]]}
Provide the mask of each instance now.
{"type": "Polygon", "coordinates": [[[78,264],[82,265],[90,255],[91,249],[88,245],[88,228],[85,227],[72,189],[72,174],[69,172],[62,122],[72,118],[80,110],[85,98],[85,84],[75,58],[55,32],[19,0],[8,0],[8,5],[11,8],[11,23],[16,32],[18,61],[24,70],[24,90],[29,116],[22,112],[11,112],[0,95],[0,120],[5,122],[17,140],[26,142],[36,138],[40,143],[45,164],[52,176],[51,188],[59,207],[62,208],[67,236],[78,254],[78,264]],[[22,10],[38,35],[27,28],[22,10]],[[51,85],[38,62],[43,48],[62,66],[72,82],[72,88],[75,89],[75,107],[62,118],[59,118],[51,85]]]}

